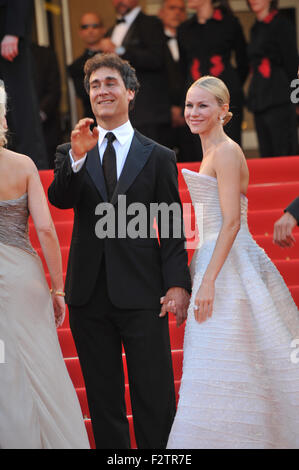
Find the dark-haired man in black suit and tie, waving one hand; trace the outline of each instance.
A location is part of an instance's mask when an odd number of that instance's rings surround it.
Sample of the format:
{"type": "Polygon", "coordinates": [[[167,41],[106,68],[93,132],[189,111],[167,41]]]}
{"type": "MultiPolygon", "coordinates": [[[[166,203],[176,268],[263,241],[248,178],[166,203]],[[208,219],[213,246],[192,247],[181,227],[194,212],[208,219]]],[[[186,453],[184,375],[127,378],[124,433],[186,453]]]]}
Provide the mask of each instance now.
{"type": "Polygon", "coordinates": [[[166,310],[175,304],[180,325],[191,285],[185,238],[175,234],[181,213],[170,211],[166,222],[157,215],[158,240],[151,208],[181,208],[175,155],[132,128],[128,113],[138,81],[127,61],[98,54],[85,73],[98,127],[91,131],[91,119],[79,121],[71,144],[57,148],[48,192],[52,204],[75,213],[66,277],[70,326],[97,448],[130,447],[122,346],[137,445],[164,448],[175,414],[166,310]],[[137,207],[143,217],[136,224],[137,207]],[[136,226],[143,236],[132,235],[136,226]]]}

